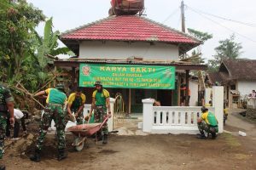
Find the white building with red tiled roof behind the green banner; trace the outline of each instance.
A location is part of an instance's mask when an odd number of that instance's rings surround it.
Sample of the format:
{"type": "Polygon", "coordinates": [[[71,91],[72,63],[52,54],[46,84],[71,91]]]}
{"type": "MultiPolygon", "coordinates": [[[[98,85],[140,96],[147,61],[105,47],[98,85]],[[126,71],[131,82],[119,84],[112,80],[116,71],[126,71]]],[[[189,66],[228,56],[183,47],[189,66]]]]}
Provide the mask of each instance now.
{"type": "MultiPolygon", "coordinates": [[[[125,111],[128,113],[142,112],[142,99],[146,98],[158,99],[161,105],[180,105],[180,84],[189,83],[189,71],[207,69],[207,65],[179,61],[179,56],[201,44],[199,40],[137,15],[110,16],[66,31],[60,39],[77,56],[55,60],[55,65],[73,70],[73,84],[79,84],[79,65],[83,63],[175,67],[175,88],[171,90],[109,87],[108,91],[113,98],[117,93],[123,95],[125,111]]],[[[91,96],[94,88],[88,87],[84,91],[86,96],[91,96]]],[[[196,105],[196,85],[189,84],[189,88],[193,90],[190,105],[196,105]]],[[[90,102],[91,98],[88,97],[86,103],[90,102]]]]}

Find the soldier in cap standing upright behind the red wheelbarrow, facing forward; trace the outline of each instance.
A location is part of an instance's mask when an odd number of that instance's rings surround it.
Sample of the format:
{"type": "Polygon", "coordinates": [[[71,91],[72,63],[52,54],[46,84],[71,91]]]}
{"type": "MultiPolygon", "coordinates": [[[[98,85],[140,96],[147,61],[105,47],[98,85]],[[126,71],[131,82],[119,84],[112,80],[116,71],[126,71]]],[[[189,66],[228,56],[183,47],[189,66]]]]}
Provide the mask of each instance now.
{"type": "MultiPolygon", "coordinates": [[[[110,111],[110,102],[109,102],[109,93],[108,90],[102,87],[102,82],[95,82],[96,90],[92,94],[92,103],[90,108],[90,116],[92,115],[92,111],[94,110],[94,120],[95,122],[103,122],[104,118],[108,116],[111,117],[110,111]],[[108,107],[108,114],[107,114],[107,107],[108,107]]],[[[108,143],[108,124],[105,123],[102,126],[101,132],[98,132],[97,137],[102,138],[102,144],[108,143]]]]}

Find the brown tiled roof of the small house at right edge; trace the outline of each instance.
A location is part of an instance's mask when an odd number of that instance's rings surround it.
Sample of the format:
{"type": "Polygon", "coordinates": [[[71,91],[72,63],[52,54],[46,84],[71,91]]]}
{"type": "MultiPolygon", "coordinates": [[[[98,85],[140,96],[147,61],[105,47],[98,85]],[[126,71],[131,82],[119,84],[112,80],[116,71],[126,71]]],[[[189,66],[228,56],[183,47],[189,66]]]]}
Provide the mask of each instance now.
{"type": "Polygon", "coordinates": [[[230,79],[256,80],[256,59],[229,59],[223,65],[230,72],[230,79]]]}

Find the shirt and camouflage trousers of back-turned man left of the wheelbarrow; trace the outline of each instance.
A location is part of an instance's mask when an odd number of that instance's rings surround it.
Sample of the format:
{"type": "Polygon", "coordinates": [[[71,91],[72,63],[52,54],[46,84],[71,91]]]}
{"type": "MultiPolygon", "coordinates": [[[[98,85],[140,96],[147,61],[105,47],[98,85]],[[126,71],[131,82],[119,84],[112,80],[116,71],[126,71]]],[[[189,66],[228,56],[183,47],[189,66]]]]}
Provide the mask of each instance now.
{"type": "Polygon", "coordinates": [[[58,137],[58,149],[63,150],[66,147],[63,105],[67,96],[55,88],[49,88],[45,92],[49,96],[49,99],[47,99],[49,103],[46,105],[44,114],[41,117],[36,147],[38,150],[42,150],[45,135],[51,121],[54,120],[58,137]],[[52,94],[50,94],[51,92],[52,94]]]}

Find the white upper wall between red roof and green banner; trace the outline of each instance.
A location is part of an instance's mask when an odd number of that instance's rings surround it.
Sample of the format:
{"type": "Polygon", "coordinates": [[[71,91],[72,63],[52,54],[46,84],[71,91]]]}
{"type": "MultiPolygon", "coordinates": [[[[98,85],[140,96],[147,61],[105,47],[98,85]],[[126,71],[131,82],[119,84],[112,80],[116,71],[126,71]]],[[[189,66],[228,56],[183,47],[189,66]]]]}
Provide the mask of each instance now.
{"type": "Polygon", "coordinates": [[[178,48],[166,43],[149,42],[105,42],[84,41],[80,43],[80,58],[127,59],[143,57],[144,59],[178,59],[178,48]]]}

